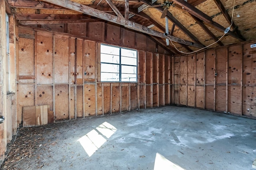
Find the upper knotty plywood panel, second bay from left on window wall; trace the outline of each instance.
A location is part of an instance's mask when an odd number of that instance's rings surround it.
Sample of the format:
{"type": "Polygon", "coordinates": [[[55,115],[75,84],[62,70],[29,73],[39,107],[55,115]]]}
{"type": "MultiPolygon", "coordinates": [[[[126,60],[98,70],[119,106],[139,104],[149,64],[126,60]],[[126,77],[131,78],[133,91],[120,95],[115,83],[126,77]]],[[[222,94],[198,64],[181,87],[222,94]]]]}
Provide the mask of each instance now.
{"type": "Polygon", "coordinates": [[[53,37],[37,32],[36,39],[37,84],[53,83],[53,37]]]}

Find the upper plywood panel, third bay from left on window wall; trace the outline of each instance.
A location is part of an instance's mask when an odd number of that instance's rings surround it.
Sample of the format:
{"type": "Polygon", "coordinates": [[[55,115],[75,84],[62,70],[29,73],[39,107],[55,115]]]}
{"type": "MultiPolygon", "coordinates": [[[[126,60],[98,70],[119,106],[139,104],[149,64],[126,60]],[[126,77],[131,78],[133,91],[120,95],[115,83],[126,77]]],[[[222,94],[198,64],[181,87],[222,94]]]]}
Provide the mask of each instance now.
{"type": "Polygon", "coordinates": [[[68,83],[69,55],[68,37],[54,36],[54,81],[68,83]]]}

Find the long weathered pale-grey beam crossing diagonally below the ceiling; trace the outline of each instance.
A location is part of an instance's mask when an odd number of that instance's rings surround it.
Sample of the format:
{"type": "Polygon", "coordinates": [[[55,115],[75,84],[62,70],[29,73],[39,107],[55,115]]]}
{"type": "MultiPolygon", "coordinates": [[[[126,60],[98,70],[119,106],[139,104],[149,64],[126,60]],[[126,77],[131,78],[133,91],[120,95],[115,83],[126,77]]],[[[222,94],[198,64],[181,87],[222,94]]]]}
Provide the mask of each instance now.
{"type": "MultiPolygon", "coordinates": [[[[110,21],[112,23],[123,25],[124,27],[133,29],[135,31],[139,31],[139,32],[146,33],[146,34],[149,34],[149,35],[154,35],[156,37],[161,37],[161,38],[164,38],[164,39],[166,38],[164,33],[154,31],[152,29],[148,29],[148,27],[145,27],[145,26],[140,25],[138,23],[135,23],[135,22],[132,22],[132,21],[129,21],[129,20],[125,20],[125,19],[119,18],[117,16],[113,16],[113,15],[108,14],[106,12],[102,12],[100,10],[90,8],[88,6],[85,6],[85,5],[76,3],[76,2],[72,2],[70,0],[58,0],[58,1],[56,1],[56,0],[44,0],[44,1],[55,4],[55,5],[58,5],[58,6],[62,6],[64,8],[68,8],[70,10],[74,10],[74,11],[77,11],[77,12],[82,12],[84,14],[88,14],[90,16],[100,18],[102,20],[106,20],[106,21],[110,21]]],[[[178,39],[177,37],[171,37],[171,39],[172,39],[172,41],[175,41],[175,42],[182,41],[181,39],[178,39]]],[[[190,42],[190,41],[185,41],[184,43],[186,43],[187,45],[198,47],[198,48],[200,48],[200,46],[201,46],[198,43],[193,43],[193,42],[190,42]]]]}

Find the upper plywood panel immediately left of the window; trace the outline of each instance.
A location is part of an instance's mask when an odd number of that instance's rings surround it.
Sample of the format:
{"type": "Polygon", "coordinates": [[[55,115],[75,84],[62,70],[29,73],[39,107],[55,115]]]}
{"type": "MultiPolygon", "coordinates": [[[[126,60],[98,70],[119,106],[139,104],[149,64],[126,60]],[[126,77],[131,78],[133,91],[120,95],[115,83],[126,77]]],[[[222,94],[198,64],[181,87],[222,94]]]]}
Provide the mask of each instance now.
{"type": "Polygon", "coordinates": [[[95,81],[95,61],[96,61],[96,43],[84,40],[84,80],[86,82],[95,81]]]}

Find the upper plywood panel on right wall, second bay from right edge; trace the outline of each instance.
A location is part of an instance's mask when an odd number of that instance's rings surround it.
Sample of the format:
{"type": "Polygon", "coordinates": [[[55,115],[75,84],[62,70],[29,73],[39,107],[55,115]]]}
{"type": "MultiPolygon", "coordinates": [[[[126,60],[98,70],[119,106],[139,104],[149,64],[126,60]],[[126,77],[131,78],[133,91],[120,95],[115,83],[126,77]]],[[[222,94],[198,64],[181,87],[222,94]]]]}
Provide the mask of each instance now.
{"type": "Polygon", "coordinates": [[[242,46],[228,48],[228,84],[241,84],[242,46]]]}

